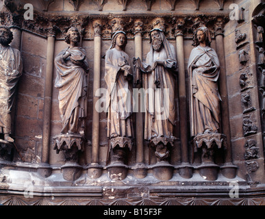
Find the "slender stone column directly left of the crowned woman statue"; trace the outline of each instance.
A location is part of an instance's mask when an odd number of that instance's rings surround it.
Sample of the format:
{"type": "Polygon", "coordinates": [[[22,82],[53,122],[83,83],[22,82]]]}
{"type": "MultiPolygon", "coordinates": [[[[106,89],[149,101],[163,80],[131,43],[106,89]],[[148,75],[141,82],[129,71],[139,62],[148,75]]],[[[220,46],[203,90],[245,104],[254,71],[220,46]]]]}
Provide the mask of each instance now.
{"type": "Polygon", "coordinates": [[[93,114],[92,114],[92,157],[88,166],[88,176],[92,179],[102,175],[102,167],[99,163],[99,112],[96,110],[96,103],[99,97],[96,96],[100,88],[101,74],[101,21],[93,22],[94,27],[94,76],[93,76],[93,114]]]}

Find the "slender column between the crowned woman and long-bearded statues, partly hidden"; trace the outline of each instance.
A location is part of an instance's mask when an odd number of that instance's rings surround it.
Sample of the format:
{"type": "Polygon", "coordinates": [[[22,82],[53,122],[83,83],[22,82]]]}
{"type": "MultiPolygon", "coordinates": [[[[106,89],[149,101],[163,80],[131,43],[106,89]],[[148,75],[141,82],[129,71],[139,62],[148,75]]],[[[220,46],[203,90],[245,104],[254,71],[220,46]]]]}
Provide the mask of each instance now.
{"type": "MultiPolygon", "coordinates": [[[[134,21],[134,42],[135,42],[135,57],[142,60],[142,27],[144,23],[137,19],[134,21]]],[[[136,88],[140,90],[142,84],[140,81],[136,81],[136,88]]],[[[136,112],[136,166],[134,166],[134,175],[138,178],[144,178],[147,175],[147,170],[144,168],[144,127],[142,121],[141,112],[141,98],[140,92],[136,96],[138,101],[138,110],[136,112]]]]}

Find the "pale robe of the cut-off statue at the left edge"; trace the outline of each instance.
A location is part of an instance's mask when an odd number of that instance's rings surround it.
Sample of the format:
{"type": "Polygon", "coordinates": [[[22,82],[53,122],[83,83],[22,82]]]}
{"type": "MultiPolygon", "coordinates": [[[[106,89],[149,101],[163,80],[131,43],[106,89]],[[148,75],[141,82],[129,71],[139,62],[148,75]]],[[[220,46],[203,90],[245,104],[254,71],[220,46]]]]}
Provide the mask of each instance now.
{"type": "Polygon", "coordinates": [[[18,49],[0,45],[0,133],[11,133],[11,109],[16,84],[22,75],[22,58],[18,49]]]}

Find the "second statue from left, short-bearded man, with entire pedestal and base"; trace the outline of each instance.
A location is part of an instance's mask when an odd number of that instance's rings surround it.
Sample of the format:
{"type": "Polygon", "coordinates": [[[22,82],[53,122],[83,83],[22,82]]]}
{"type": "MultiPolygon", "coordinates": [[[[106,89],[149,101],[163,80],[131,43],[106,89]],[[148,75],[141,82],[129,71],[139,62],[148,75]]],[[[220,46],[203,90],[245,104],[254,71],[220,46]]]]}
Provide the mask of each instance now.
{"type": "Polygon", "coordinates": [[[63,151],[66,164],[62,168],[67,181],[75,181],[81,175],[79,151],[84,151],[85,121],[87,115],[88,59],[85,50],[78,47],[81,36],[76,27],[66,33],[65,42],[70,47],[55,57],[59,110],[62,120],[61,133],[54,137],[56,153],[63,151]]]}

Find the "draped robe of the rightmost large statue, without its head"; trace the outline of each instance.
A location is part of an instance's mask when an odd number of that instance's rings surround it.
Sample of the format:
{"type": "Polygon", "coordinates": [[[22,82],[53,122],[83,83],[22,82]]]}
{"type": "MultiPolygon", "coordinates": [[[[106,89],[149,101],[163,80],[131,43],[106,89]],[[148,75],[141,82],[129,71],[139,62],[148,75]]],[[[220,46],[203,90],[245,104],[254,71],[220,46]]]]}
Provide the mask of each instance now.
{"type": "Polygon", "coordinates": [[[220,94],[218,92],[219,60],[211,47],[192,49],[188,61],[190,77],[190,128],[191,136],[218,132],[220,124],[220,94]],[[192,64],[198,66],[192,70],[192,64]],[[205,69],[216,66],[204,72],[205,69]]]}

